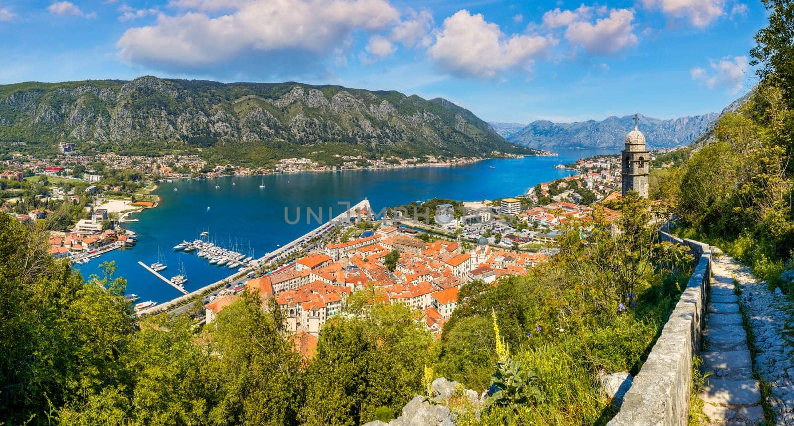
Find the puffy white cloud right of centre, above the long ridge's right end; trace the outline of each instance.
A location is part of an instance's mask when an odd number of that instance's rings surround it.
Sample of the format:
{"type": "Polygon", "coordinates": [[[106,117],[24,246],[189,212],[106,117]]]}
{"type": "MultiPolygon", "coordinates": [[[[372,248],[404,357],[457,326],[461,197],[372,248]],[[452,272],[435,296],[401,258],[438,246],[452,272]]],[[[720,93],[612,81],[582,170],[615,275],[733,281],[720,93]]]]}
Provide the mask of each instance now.
{"type": "Polygon", "coordinates": [[[507,37],[481,14],[460,10],[444,20],[427,52],[437,66],[454,76],[491,79],[508,68],[524,68],[556,43],[539,35],[507,37]]]}

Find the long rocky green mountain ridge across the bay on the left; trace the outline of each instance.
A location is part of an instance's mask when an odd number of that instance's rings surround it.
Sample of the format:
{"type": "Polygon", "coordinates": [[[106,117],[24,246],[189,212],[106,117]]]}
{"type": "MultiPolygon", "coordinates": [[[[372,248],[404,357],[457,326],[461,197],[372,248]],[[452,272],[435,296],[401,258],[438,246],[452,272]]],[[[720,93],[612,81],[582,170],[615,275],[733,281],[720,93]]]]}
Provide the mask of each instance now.
{"type": "Polygon", "coordinates": [[[301,83],[141,77],[0,86],[0,149],[202,152],[256,164],[295,155],[531,153],[445,99],[301,83]],[[20,144],[15,144],[18,146],[20,144]]]}

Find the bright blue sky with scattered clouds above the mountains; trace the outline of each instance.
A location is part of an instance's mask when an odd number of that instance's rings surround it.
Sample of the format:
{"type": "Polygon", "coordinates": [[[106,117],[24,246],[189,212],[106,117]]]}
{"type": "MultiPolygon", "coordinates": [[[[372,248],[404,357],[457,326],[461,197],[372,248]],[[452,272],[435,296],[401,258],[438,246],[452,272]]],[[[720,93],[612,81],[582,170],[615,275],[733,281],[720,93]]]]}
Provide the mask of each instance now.
{"type": "Polygon", "coordinates": [[[445,98],[488,121],[719,112],[757,0],[0,0],[0,84],[158,76],[445,98]]]}

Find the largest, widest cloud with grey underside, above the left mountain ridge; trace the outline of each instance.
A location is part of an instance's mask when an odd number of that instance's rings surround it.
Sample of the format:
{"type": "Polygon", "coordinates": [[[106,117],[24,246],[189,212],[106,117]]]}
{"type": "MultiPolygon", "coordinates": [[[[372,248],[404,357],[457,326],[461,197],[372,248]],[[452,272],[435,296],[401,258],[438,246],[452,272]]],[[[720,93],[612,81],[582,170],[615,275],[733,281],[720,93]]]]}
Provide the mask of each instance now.
{"type": "MultiPolygon", "coordinates": [[[[118,56],[178,71],[215,68],[279,73],[318,72],[318,64],[354,32],[399,24],[385,0],[179,0],[180,14],[160,14],[153,25],[128,29],[118,56]],[[229,10],[214,16],[211,10],[229,10]]],[[[319,70],[322,71],[322,70],[319,70]]]]}

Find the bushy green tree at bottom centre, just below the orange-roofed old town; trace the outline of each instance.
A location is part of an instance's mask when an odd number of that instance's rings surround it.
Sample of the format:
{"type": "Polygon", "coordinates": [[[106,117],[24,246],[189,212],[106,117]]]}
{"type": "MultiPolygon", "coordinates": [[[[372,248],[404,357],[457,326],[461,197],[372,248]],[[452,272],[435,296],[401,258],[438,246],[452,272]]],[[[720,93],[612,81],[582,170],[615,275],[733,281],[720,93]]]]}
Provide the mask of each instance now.
{"type": "Polygon", "coordinates": [[[333,317],[306,367],[300,420],[362,424],[382,407],[399,412],[421,392],[434,348],[434,338],[403,304],[376,304],[365,317],[333,317]]]}

